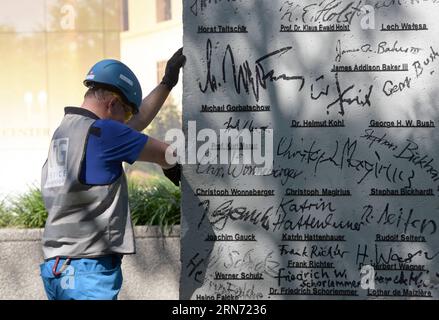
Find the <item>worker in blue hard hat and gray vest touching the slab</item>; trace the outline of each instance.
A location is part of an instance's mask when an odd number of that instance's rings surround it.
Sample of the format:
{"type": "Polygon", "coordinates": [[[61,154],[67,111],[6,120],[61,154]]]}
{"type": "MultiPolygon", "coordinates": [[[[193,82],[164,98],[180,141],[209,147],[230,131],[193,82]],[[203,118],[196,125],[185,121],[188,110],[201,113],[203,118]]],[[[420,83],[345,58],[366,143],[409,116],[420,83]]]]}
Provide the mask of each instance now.
{"type": "Polygon", "coordinates": [[[65,108],[41,177],[49,215],[40,269],[49,299],[117,299],[121,259],[136,251],[123,162],[157,163],[179,185],[180,165],[166,162],[168,145],[141,131],[177,84],[182,51],[146,98],[130,68],[100,61],[84,80],[82,106],[65,108]]]}

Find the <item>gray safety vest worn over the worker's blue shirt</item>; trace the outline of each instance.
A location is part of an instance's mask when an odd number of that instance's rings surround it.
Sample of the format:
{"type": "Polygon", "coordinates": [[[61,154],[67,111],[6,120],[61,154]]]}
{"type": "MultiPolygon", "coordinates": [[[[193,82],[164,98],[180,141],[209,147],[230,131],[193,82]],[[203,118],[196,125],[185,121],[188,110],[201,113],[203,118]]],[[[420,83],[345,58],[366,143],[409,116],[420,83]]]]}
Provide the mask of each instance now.
{"type": "Polygon", "coordinates": [[[94,122],[92,117],[66,112],[52,137],[41,177],[49,213],[42,239],[45,259],[135,253],[125,174],[110,185],[79,181],[94,122]]]}

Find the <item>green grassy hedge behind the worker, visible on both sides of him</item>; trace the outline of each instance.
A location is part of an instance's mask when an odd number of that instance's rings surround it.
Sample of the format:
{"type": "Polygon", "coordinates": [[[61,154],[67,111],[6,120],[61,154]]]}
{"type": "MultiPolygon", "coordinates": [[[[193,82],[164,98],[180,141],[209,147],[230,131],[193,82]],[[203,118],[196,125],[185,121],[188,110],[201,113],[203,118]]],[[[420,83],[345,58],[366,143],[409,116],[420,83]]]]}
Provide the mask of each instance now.
{"type": "MultiPolygon", "coordinates": [[[[180,189],[168,179],[152,177],[147,183],[129,182],[129,203],[135,225],[159,225],[169,230],[180,223],[180,189]]],[[[43,228],[47,219],[41,191],[0,202],[0,228],[43,228]]]]}

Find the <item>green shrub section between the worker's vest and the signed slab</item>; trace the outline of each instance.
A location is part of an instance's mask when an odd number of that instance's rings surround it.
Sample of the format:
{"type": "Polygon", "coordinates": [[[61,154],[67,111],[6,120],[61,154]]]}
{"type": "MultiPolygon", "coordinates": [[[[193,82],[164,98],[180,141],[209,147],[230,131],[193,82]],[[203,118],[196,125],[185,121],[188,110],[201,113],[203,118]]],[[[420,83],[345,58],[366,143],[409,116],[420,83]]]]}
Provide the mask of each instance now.
{"type": "Polygon", "coordinates": [[[180,189],[167,178],[154,177],[146,184],[129,183],[131,217],[135,225],[159,225],[162,230],[180,223],[180,189]]]}

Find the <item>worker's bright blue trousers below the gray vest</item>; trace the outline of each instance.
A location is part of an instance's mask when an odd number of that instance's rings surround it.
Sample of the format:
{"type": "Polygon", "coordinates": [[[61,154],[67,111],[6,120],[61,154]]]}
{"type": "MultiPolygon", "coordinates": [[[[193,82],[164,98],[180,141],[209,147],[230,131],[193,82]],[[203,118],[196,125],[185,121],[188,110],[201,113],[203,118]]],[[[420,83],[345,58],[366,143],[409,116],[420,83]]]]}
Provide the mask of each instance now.
{"type": "MultiPolygon", "coordinates": [[[[66,259],[60,259],[57,271],[66,259]]],[[[121,258],[108,255],[94,259],[71,259],[56,277],[55,259],[40,265],[41,278],[50,300],[116,300],[122,286],[121,258]]]]}

